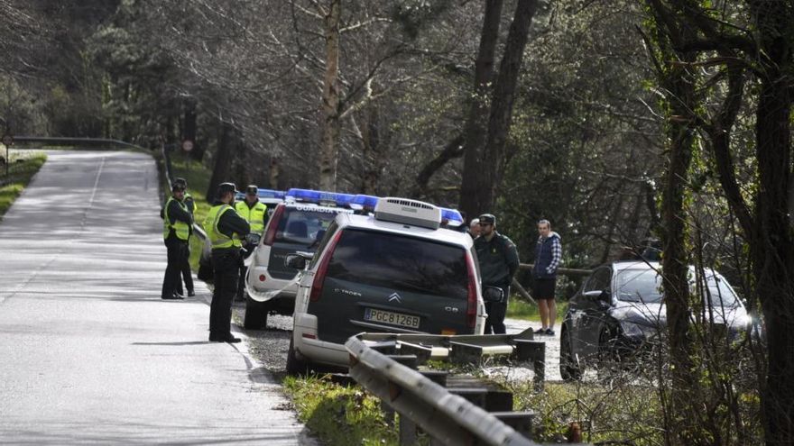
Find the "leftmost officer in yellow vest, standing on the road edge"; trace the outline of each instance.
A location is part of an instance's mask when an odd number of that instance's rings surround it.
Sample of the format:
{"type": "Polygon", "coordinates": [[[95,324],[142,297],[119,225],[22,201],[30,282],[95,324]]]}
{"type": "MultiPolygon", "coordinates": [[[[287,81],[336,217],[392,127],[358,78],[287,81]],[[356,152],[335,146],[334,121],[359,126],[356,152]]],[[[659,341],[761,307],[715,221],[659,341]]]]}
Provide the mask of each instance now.
{"type": "Polygon", "coordinates": [[[160,294],[163,299],[184,298],[175,293],[182,266],[188,261],[188,239],[193,224],[193,216],[182,201],[184,197],[185,185],[174,183],[171,197],[162,209],[162,238],[168,250],[168,265],[165,267],[160,294]]]}

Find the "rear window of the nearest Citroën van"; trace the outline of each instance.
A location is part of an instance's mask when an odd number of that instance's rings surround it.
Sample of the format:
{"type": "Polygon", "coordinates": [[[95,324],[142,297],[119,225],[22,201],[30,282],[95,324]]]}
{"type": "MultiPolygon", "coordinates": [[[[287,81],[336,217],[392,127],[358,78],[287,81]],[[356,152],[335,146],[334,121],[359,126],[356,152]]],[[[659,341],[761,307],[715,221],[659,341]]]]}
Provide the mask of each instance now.
{"type": "Polygon", "coordinates": [[[462,300],[468,294],[463,247],[388,232],[342,232],[328,277],[462,300]]]}

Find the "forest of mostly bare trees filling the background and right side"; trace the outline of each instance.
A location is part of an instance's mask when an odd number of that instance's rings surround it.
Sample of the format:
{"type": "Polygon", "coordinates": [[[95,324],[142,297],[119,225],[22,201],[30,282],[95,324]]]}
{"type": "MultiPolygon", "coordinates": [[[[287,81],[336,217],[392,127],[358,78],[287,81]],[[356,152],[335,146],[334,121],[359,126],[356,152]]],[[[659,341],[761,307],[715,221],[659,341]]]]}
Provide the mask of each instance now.
{"type": "Polygon", "coordinates": [[[491,212],[528,262],[541,218],[569,268],[659,239],[674,366],[665,442],[744,444],[761,438],[753,426],[769,444],[794,438],[790,2],[0,0],[0,11],[7,134],[152,150],[187,140],[210,189],[491,212]],[[698,298],[680,268],[693,263],[719,269],[763,320],[766,340],[743,345],[751,368],[714,369],[700,350],[713,346],[692,335],[698,298]],[[734,373],[757,378],[753,397],[734,391],[734,373]]]}

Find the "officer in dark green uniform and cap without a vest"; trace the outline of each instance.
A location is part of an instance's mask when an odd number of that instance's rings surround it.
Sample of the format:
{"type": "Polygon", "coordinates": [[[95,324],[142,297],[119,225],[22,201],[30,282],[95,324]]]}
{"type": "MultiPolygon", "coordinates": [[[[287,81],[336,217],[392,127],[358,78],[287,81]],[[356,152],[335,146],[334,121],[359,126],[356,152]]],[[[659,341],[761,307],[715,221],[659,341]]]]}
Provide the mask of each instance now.
{"type": "Polygon", "coordinates": [[[485,334],[503,334],[504,314],[507,313],[507,298],[510,296],[512,276],[518,270],[518,251],[515,243],[496,232],[496,217],[482,214],[479,217],[480,235],[475,239],[475,250],[480,262],[480,273],[484,286],[502,288],[501,302],[485,302],[485,334]]]}

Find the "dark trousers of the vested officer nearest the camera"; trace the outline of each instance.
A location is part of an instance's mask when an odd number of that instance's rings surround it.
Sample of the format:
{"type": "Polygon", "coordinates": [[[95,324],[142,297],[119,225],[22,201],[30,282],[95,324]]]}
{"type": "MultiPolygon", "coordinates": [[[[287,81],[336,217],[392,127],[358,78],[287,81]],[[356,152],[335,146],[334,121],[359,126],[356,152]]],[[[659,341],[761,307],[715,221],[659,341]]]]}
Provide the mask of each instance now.
{"type": "Polygon", "coordinates": [[[227,338],[232,321],[232,301],[237,291],[237,276],[240,271],[239,248],[212,250],[212,266],[215,269],[215,290],[209,305],[209,336],[227,338]]]}

